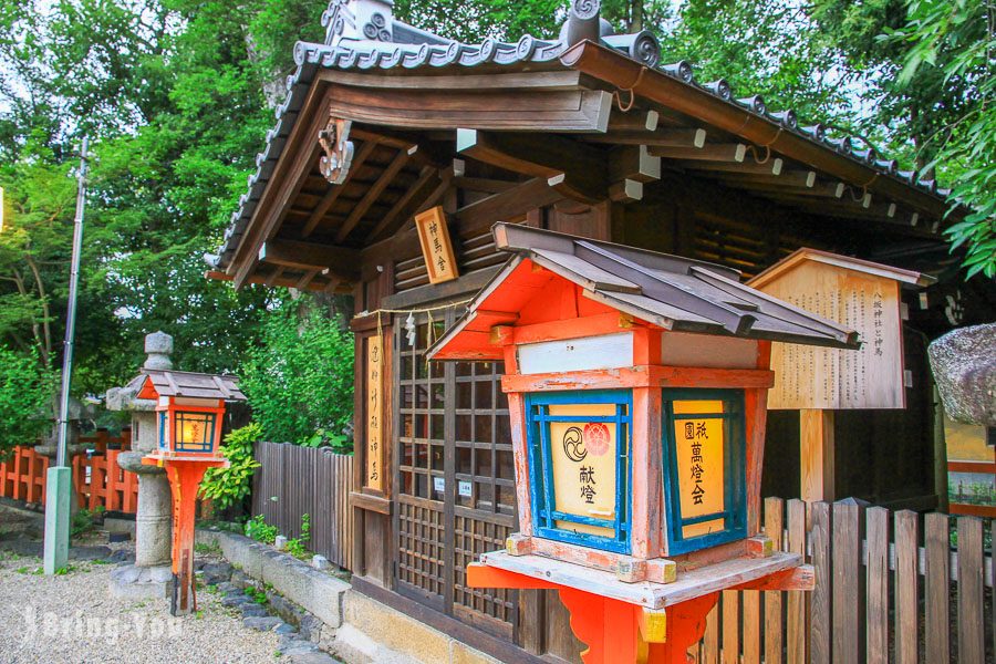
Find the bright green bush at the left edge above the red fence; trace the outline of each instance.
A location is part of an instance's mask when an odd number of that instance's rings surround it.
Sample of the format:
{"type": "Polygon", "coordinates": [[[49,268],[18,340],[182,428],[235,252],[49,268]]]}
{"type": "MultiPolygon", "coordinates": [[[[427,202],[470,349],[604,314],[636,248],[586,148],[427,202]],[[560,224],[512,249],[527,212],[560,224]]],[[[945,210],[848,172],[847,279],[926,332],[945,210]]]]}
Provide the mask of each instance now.
{"type": "MultiPolygon", "coordinates": [[[[2,312],[2,308],[0,308],[2,312]]],[[[0,313],[2,317],[2,313],[0,313]]],[[[34,351],[15,353],[0,345],[0,456],[17,445],[32,443],[51,422],[40,415],[52,395],[51,372],[34,351]]]]}

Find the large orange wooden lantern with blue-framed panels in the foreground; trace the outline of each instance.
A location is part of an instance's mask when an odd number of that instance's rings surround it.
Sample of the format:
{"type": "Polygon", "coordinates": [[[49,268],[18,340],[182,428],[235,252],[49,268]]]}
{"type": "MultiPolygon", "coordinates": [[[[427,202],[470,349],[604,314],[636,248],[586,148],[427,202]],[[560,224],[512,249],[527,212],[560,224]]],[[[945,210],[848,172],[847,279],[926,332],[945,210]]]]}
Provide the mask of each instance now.
{"type": "Polygon", "coordinates": [[[507,372],[520,528],[469,583],[559,590],[589,664],[684,661],[719,591],[811,588],[759,533],[770,342],[857,334],[719,266],[494,232],[513,257],[428,353],[507,372]]]}

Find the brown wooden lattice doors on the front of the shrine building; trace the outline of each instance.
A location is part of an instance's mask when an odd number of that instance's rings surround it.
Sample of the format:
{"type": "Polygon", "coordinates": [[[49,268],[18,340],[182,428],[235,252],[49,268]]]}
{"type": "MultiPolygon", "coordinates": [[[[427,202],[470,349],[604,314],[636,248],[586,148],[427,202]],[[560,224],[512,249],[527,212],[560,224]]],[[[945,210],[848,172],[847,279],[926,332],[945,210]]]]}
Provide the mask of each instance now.
{"type": "Polygon", "coordinates": [[[518,593],[466,587],[466,569],[516,527],[501,363],[425,361],[454,312],[395,325],[398,590],[511,639],[518,593]]]}

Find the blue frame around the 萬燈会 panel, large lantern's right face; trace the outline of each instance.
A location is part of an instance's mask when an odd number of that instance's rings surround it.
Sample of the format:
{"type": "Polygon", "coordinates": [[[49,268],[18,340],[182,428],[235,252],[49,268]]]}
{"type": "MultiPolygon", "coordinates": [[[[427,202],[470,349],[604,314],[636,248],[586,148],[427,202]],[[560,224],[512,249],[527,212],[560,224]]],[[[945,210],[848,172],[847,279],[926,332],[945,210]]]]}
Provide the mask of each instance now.
{"type": "Polygon", "coordinates": [[[747,537],[747,432],[744,416],[743,390],[664,390],[663,391],[663,448],[664,448],[664,508],[667,512],[668,556],[679,556],[689,551],[707,549],[747,537]],[[693,518],[682,517],[681,484],[678,481],[677,449],[674,438],[674,402],[676,401],[722,401],[723,413],[681,413],[681,419],[719,418],[723,430],[723,511],[693,518]],[[722,518],[725,528],[717,532],[684,537],[683,529],[705,521],[722,518]]]}

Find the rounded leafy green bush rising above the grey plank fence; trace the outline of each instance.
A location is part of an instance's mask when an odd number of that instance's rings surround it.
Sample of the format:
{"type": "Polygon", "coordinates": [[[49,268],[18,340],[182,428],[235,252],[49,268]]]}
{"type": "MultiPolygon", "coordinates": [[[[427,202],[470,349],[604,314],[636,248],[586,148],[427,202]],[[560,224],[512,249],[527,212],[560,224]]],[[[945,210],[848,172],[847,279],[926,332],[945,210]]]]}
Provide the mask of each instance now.
{"type": "Polygon", "coordinates": [[[352,419],[353,335],[310,298],[270,312],[240,386],[263,438],[313,445],[352,419]]]}

